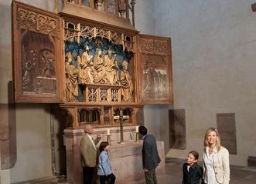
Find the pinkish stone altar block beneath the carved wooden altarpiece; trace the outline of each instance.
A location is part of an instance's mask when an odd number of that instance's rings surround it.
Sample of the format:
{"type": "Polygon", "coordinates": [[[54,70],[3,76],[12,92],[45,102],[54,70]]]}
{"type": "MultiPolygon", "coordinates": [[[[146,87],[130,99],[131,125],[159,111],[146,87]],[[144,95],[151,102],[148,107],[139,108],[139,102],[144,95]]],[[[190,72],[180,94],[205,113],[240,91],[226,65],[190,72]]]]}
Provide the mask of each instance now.
{"type": "MultiPolygon", "coordinates": [[[[131,140],[130,132],[135,132],[135,126],[124,127],[124,144],[118,144],[118,127],[111,128],[110,161],[112,172],[116,176],[116,184],[123,184],[144,179],[142,169],[142,141],[131,140]]],[[[104,128],[94,129],[94,134],[101,134],[101,141],[107,141],[104,128]]],[[[84,136],[83,129],[65,129],[67,152],[67,182],[82,183],[83,170],[80,157],[80,139],[84,136]]],[[[93,136],[95,136],[93,135],[93,136]]],[[[157,174],[165,173],[164,142],[157,142],[159,156],[162,162],[156,169],[157,174]]],[[[97,183],[97,181],[95,181],[97,183]]]]}

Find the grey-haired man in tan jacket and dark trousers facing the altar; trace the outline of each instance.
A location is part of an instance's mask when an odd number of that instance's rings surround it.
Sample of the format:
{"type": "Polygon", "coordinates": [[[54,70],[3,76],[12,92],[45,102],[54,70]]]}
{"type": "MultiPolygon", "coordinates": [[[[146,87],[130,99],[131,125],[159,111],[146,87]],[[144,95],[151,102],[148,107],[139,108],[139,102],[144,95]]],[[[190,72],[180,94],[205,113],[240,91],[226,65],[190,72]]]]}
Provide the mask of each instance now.
{"type": "Polygon", "coordinates": [[[101,135],[97,135],[97,139],[94,140],[91,136],[94,132],[94,129],[91,125],[85,125],[84,132],[85,135],[80,142],[84,184],[91,184],[97,162],[96,145],[98,142],[100,142],[101,135]]]}

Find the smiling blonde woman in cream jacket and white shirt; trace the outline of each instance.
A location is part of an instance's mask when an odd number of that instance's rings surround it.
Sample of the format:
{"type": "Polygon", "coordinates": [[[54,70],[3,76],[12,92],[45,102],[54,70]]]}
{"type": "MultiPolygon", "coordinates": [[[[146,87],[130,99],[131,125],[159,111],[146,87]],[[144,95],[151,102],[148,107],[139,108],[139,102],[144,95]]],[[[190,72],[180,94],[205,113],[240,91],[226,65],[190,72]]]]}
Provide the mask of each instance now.
{"type": "Polygon", "coordinates": [[[230,181],[229,152],[220,146],[220,134],[210,128],[204,136],[203,181],[207,184],[228,184],[230,181]]]}

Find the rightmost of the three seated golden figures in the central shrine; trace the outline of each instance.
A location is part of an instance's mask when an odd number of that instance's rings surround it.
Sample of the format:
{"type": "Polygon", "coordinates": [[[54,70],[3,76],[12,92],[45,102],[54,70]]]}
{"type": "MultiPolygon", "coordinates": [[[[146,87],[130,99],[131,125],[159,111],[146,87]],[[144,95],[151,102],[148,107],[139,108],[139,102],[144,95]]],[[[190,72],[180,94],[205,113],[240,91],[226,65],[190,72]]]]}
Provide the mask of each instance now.
{"type": "Polygon", "coordinates": [[[111,85],[117,84],[117,65],[114,62],[115,55],[113,57],[112,50],[108,49],[108,54],[104,55],[104,66],[106,69],[106,74],[108,77],[108,81],[111,82],[111,85]]]}

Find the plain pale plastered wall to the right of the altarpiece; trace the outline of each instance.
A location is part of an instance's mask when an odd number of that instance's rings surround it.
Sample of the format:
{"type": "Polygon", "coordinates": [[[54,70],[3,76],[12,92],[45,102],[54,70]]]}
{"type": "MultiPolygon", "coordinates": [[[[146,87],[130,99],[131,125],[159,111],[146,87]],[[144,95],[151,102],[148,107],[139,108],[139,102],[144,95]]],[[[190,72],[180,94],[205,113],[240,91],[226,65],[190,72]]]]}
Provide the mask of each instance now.
{"type": "MultiPolygon", "coordinates": [[[[237,155],[230,163],[247,166],[255,156],[256,14],[254,1],[155,2],[155,33],[172,38],[174,109],[186,111],[186,149],[167,156],[203,153],[203,136],[217,127],[217,114],[234,113],[237,155]]],[[[233,128],[232,128],[233,129],[233,128]]]]}

